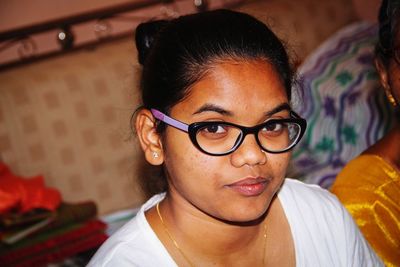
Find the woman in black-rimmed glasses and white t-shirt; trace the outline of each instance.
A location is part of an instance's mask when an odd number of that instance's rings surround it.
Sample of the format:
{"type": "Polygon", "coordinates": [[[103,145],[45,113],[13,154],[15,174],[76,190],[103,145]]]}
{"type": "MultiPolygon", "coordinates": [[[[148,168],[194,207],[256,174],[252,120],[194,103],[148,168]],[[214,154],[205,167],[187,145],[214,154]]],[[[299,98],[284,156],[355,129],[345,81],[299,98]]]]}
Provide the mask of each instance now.
{"type": "Polygon", "coordinates": [[[139,25],[136,130],[153,196],[89,266],[379,266],[337,199],[285,179],[306,122],[282,43],[217,10],[139,25]]]}

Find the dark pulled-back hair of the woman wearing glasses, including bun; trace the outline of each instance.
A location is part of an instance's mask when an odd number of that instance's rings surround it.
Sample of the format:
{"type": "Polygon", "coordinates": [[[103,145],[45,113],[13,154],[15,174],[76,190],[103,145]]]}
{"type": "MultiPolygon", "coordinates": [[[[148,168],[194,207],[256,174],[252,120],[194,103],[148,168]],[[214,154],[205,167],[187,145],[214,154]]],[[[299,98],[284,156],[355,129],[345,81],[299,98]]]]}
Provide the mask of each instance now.
{"type": "MultiPolygon", "coordinates": [[[[265,24],[250,15],[214,10],[150,21],[136,28],[135,39],[143,65],[140,87],[144,108],[169,114],[213,65],[228,60],[270,63],[291,98],[293,71],[286,50],[265,24]]],[[[157,131],[164,129],[165,125],[158,123],[157,131]]],[[[162,169],[150,171],[141,181],[147,196],[167,189],[162,169]]]]}

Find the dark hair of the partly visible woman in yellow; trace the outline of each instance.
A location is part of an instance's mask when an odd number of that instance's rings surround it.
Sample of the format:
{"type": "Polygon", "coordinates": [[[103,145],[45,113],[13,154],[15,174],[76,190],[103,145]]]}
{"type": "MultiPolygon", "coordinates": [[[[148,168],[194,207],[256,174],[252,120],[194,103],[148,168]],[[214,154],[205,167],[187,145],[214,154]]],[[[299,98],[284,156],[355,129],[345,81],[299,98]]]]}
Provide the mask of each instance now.
{"type": "Polygon", "coordinates": [[[387,65],[392,56],[400,19],[400,0],[383,0],[379,9],[379,40],[375,54],[387,65]]]}

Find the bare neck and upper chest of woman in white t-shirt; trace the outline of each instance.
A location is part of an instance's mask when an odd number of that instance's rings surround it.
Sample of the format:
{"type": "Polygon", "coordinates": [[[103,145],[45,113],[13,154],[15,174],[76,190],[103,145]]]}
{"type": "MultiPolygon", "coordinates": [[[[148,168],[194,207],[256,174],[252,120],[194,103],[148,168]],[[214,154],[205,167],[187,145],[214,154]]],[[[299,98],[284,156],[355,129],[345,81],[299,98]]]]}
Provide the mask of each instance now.
{"type": "Polygon", "coordinates": [[[159,211],[164,222],[156,218],[161,223],[157,235],[161,234],[160,240],[178,263],[182,259],[183,264],[195,266],[210,262],[221,266],[234,266],[239,262],[254,266],[265,261],[267,228],[264,220],[246,226],[227,223],[173,201],[170,196],[160,203],[159,211]],[[250,253],[252,262],[245,263],[250,253]]]}

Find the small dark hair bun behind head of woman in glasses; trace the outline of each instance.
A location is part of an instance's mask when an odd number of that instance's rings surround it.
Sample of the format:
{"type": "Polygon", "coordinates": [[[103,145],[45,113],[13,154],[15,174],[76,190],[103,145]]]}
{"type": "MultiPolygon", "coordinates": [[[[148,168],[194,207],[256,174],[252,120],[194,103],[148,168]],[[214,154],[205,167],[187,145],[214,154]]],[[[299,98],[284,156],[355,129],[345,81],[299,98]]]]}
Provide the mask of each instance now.
{"type": "Polygon", "coordinates": [[[168,21],[166,20],[155,20],[141,23],[136,27],[136,49],[138,51],[138,60],[141,65],[144,64],[157,34],[167,24],[168,21]]]}

